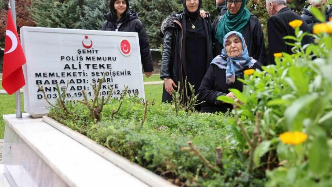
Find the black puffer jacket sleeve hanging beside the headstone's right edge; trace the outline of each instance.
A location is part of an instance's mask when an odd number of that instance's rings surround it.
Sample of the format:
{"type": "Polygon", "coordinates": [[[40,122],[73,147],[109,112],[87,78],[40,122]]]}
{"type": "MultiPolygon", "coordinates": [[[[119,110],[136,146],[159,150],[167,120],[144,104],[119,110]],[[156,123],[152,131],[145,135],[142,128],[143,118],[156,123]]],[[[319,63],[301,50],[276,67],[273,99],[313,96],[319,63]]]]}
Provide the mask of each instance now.
{"type": "Polygon", "coordinates": [[[141,60],[144,72],[153,71],[152,55],[150,51],[149,37],[147,36],[144,24],[139,22],[138,40],[141,53],[141,60]]]}

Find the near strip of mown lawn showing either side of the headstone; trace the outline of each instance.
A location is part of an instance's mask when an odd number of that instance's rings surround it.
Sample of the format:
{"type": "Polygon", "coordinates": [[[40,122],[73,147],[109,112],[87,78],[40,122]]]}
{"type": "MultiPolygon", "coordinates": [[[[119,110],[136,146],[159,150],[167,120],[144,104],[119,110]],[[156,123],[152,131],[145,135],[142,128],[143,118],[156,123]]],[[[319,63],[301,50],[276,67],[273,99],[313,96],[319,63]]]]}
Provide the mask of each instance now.
{"type": "MultiPolygon", "coordinates": [[[[161,96],[162,96],[163,85],[145,85],[145,99],[151,102],[153,98],[155,99],[155,104],[161,104],[161,96]]],[[[23,104],[23,94],[21,94],[21,103],[22,110],[24,112],[24,104],[23,104]]],[[[2,94],[0,95],[0,139],[3,139],[5,133],[5,121],[2,119],[2,115],[5,114],[15,114],[15,94],[8,95],[2,94]]]]}

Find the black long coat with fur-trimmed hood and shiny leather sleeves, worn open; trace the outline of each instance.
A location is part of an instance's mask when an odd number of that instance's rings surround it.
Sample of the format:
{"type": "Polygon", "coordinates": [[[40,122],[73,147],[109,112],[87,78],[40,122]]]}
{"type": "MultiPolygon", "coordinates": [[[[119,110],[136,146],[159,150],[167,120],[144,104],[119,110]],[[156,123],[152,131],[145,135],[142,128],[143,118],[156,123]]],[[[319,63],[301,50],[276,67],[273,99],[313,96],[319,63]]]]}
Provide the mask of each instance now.
{"type": "MultiPolygon", "coordinates": [[[[180,82],[180,90],[185,90],[185,85],[183,83],[186,78],[187,69],[186,61],[183,60],[186,51],[186,46],[184,42],[185,39],[183,37],[183,33],[186,32],[186,28],[182,27],[183,18],[183,12],[173,14],[170,17],[166,18],[162,23],[161,32],[159,34],[160,37],[164,38],[161,57],[160,79],[171,78],[177,86],[178,82],[180,82]]],[[[208,37],[207,47],[202,46],[202,50],[207,51],[208,60],[206,62],[206,69],[208,69],[212,60],[212,44],[210,32],[211,23],[208,15],[206,18],[202,19],[204,20],[204,28],[208,37]]],[[[172,96],[166,92],[164,84],[162,102],[167,101],[172,101],[172,96]]],[[[183,102],[185,102],[185,97],[183,97],[183,102]]]]}

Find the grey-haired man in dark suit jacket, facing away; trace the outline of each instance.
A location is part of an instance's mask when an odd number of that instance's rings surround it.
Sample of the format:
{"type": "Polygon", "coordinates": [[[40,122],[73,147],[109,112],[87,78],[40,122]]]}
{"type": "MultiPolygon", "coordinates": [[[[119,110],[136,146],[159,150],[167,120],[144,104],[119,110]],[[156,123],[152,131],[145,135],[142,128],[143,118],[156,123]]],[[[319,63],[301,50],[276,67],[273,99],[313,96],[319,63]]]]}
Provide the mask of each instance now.
{"type": "MultiPolygon", "coordinates": [[[[266,9],[269,13],[268,20],[268,39],[269,39],[269,56],[270,64],[275,64],[274,53],[287,52],[292,54],[292,46],[285,44],[286,42],[294,43],[293,40],[284,40],[285,36],[295,36],[295,30],[290,27],[289,23],[294,20],[301,20],[303,24],[300,30],[310,32],[306,22],[286,6],[286,0],[266,0],[266,9]]],[[[302,40],[302,46],[310,43],[310,37],[306,36],[302,40]]]]}

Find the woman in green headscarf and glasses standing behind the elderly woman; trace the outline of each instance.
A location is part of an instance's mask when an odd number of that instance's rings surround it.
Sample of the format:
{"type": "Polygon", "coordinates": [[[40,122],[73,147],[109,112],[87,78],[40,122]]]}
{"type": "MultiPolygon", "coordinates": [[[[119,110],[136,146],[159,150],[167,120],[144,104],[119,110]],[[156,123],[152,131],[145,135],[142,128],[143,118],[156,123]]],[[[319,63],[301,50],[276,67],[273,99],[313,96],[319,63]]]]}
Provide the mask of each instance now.
{"type": "Polygon", "coordinates": [[[261,24],[257,16],[250,14],[246,4],[247,0],[226,0],[227,12],[217,18],[217,27],[212,28],[213,57],[221,54],[225,35],[236,31],[243,35],[249,55],[268,65],[261,24]]]}

